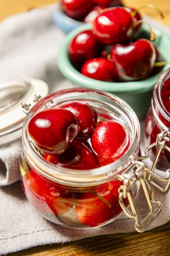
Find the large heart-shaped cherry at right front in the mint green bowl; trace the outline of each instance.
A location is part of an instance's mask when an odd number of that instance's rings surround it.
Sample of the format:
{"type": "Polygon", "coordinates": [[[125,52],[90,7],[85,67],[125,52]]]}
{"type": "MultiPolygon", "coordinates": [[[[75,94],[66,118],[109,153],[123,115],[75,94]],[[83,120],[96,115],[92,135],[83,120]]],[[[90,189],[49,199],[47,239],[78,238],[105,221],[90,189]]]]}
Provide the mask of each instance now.
{"type": "Polygon", "coordinates": [[[147,39],[129,45],[117,44],[110,51],[110,61],[121,81],[137,81],[149,76],[155,65],[155,48],[147,39]]]}

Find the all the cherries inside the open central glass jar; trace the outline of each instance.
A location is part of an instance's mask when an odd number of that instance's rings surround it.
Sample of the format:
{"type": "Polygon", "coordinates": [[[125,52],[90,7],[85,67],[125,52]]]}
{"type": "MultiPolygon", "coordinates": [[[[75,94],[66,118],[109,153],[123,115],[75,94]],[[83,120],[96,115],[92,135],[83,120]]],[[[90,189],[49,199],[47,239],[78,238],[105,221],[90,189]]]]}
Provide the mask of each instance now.
{"type": "MultiPolygon", "coordinates": [[[[79,100],[35,113],[29,120],[27,133],[43,161],[56,168],[79,172],[116,161],[127,152],[131,143],[125,124],[109,115],[97,114],[93,106],[79,100]]],[[[25,158],[23,162],[24,192],[45,218],[55,223],[60,220],[66,226],[70,219],[72,227],[98,227],[122,212],[118,192],[123,185],[121,180],[115,178],[93,189],[74,191],[43,177],[25,158]]],[[[124,204],[128,205],[127,198],[124,204]]]]}

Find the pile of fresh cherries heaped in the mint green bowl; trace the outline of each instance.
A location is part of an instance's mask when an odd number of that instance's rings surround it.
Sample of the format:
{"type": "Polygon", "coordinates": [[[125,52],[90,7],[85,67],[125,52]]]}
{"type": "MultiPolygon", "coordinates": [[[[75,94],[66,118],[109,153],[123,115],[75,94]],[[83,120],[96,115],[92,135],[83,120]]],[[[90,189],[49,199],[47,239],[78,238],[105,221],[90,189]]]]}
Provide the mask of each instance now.
{"type": "Polygon", "coordinates": [[[84,76],[108,82],[139,81],[157,74],[166,63],[149,24],[149,38],[138,38],[142,23],[132,8],[104,9],[91,29],[79,32],[69,43],[72,65],[84,76]]]}

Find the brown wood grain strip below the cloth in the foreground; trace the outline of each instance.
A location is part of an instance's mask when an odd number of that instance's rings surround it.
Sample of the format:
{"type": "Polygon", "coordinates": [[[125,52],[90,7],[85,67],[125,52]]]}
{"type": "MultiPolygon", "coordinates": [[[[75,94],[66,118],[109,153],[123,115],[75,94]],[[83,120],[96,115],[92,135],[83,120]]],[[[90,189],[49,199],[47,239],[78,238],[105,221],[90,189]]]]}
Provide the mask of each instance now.
{"type": "Polygon", "coordinates": [[[85,238],[62,245],[44,245],[9,256],[169,256],[170,222],[144,233],[85,238]]]}

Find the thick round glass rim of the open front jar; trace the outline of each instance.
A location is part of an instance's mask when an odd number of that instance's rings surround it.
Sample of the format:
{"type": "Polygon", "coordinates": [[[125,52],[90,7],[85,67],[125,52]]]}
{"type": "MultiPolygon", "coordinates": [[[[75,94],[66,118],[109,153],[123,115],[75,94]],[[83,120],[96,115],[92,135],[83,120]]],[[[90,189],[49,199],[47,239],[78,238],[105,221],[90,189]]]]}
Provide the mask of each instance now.
{"type": "Polygon", "coordinates": [[[68,186],[92,186],[110,180],[132,163],[132,160],[137,157],[139,152],[140,135],[140,124],[135,112],[119,97],[100,90],[71,88],[49,94],[31,108],[24,120],[22,141],[25,157],[28,159],[31,166],[44,177],[60,184],[67,184],[68,186]],[[26,127],[35,113],[49,106],[60,105],[61,103],[76,99],[87,101],[93,107],[99,106],[101,109],[105,108],[110,112],[113,111],[115,118],[121,119],[121,121],[129,127],[130,136],[132,138],[130,147],[126,153],[115,162],[89,170],[75,170],[61,166],[56,167],[54,164],[47,162],[38,155],[37,150],[35,150],[35,147],[29,141],[26,127]]]}

